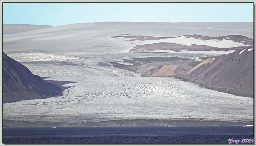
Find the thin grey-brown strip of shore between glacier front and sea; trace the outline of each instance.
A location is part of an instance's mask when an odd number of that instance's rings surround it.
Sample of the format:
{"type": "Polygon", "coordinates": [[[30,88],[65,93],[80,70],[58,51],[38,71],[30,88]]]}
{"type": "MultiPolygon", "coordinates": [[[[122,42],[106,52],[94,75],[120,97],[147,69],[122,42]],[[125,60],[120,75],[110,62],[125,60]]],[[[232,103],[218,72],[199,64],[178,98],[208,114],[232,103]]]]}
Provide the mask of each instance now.
{"type": "Polygon", "coordinates": [[[134,119],[134,120],[109,120],[99,122],[52,122],[52,121],[24,121],[3,120],[3,127],[181,127],[181,126],[247,126],[254,125],[253,120],[246,121],[221,121],[221,120],[159,120],[159,119],[134,119]]]}

